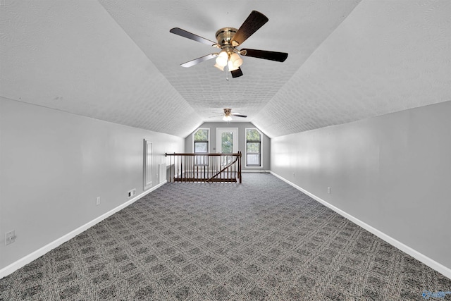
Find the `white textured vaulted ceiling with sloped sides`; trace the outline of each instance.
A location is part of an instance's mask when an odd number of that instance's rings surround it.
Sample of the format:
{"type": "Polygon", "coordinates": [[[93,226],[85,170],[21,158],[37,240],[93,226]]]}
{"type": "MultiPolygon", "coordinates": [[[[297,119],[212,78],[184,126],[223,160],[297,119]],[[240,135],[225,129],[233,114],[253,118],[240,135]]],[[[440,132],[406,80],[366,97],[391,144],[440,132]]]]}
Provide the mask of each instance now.
{"type": "MultiPolygon", "coordinates": [[[[185,137],[223,108],[270,137],[451,100],[451,1],[0,2],[0,97],[185,137]],[[252,10],[269,21],[226,80],[180,63],[252,10]]],[[[234,121],[238,119],[235,118],[234,121]]]]}

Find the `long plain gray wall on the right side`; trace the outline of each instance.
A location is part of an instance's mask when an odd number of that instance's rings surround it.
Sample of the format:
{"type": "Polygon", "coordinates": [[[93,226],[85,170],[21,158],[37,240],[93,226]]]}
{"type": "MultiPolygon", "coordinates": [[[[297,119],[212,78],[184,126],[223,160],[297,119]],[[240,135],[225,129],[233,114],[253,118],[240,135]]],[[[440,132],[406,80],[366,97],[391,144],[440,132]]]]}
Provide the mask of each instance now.
{"type": "Polygon", "coordinates": [[[444,102],[272,138],[271,171],[451,269],[450,116],[444,102]]]}

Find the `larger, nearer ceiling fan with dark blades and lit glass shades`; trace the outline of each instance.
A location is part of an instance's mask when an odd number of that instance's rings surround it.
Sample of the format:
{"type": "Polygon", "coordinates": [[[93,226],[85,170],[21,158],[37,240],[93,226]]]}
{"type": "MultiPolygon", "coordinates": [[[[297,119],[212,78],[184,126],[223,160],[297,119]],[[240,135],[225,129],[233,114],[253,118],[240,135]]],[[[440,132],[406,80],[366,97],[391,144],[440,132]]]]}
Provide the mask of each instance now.
{"type": "Polygon", "coordinates": [[[178,27],[174,27],[170,30],[175,35],[180,35],[181,37],[186,37],[194,41],[207,44],[211,47],[216,47],[221,49],[219,53],[207,54],[206,56],[201,56],[198,59],[192,61],[187,61],[181,64],[183,67],[191,67],[203,61],[208,61],[209,59],[216,58],[215,67],[220,70],[226,69],[232,73],[233,78],[240,77],[242,75],[241,56],[251,56],[257,59],[266,59],[270,61],[280,61],[283,62],[287,59],[288,54],[285,52],[276,52],[268,50],[258,50],[258,49],[237,49],[245,40],[254,34],[261,26],[268,22],[268,18],[264,16],[263,13],[258,11],[252,11],[247,17],[244,23],[242,23],[239,29],[233,27],[224,27],[216,32],[216,40],[213,42],[204,37],[199,37],[191,32],[187,32],[178,27]],[[241,56],[240,56],[241,55],[241,56]]]}

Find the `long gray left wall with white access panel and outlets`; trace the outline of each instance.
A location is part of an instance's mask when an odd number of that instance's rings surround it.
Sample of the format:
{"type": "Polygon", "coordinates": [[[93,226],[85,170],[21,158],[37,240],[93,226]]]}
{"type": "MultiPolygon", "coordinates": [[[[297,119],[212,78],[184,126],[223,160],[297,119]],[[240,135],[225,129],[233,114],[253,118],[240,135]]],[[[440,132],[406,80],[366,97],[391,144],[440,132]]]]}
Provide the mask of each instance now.
{"type": "Polygon", "coordinates": [[[127,202],[128,190],[140,195],[144,138],[157,185],[164,153],[183,152],[183,138],[0,97],[0,269],[127,202]]]}

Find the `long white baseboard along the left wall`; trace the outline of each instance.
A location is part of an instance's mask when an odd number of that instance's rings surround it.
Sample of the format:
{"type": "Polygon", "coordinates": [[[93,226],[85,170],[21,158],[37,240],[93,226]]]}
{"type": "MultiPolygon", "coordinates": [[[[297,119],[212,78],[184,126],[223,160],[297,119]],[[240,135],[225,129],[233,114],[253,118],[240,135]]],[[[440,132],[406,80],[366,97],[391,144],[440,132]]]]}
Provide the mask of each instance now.
{"type": "Polygon", "coordinates": [[[115,214],[118,211],[121,211],[125,207],[128,207],[130,204],[136,202],[141,197],[144,197],[144,195],[148,195],[150,192],[156,190],[157,188],[160,188],[162,185],[164,185],[167,182],[167,180],[164,180],[163,182],[159,183],[159,185],[155,185],[154,187],[150,188],[149,190],[146,190],[142,192],[140,195],[137,195],[136,197],[133,197],[132,199],[128,200],[127,202],[119,205],[118,207],[111,209],[110,211],[106,212],[105,214],[102,214],[101,216],[97,217],[96,219],[93,219],[92,221],[89,221],[88,223],[85,223],[85,225],[80,226],[76,228],[74,231],[71,231],[67,233],[66,235],[61,236],[61,238],[58,238],[54,240],[53,242],[50,242],[47,245],[44,245],[44,247],[41,247],[40,249],[36,250],[35,252],[32,252],[25,257],[22,257],[16,262],[13,262],[12,264],[5,266],[3,269],[0,270],[0,279],[4,278],[5,276],[8,276],[9,274],[12,274],[14,271],[17,271],[21,267],[25,266],[26,264],[29,264],[33,260],[41,257],[42,255],[46,254],[47,252],[54,250],[54,248],[58,247],[59,245],[62,245],[64,242],[75,238],[78,234],[82,233],[83,231],[86,231],[87,229],[91,228],[95,224],[103,221],[107,217],[115,214]]]}

